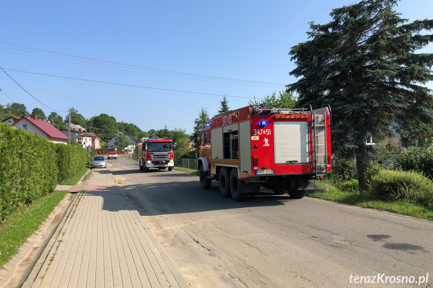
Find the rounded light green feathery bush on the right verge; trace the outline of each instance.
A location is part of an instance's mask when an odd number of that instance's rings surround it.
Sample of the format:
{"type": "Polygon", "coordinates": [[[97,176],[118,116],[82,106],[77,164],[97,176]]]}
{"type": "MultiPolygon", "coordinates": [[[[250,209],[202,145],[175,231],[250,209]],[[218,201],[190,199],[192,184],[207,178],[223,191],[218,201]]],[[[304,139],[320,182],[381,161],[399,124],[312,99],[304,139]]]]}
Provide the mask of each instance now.
{"type": "Polygon", "coordinates": [[[433,208],[433,182],[414,171],[380,170],[371,178],[370,195],[391,200],[407,200],[433,208]]]}

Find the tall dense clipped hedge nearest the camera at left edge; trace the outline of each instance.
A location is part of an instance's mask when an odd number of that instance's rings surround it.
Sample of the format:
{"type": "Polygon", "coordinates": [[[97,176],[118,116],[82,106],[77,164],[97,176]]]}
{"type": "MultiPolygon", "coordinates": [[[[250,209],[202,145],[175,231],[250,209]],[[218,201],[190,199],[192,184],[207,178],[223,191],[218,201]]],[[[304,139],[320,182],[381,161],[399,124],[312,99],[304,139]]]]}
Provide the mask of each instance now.
{"type": "Polygon", "coordinates": [[[0,220],[53,191],[58,172],[55,144],[0,124],[0,220]]]}

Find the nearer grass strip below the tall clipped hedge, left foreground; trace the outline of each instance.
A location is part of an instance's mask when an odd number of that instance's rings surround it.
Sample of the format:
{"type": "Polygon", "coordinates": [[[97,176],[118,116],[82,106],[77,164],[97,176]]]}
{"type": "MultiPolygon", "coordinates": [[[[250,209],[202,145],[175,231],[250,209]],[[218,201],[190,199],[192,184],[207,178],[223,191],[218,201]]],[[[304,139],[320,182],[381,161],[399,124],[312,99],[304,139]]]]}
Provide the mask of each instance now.
{"type": "Polygon", "coordinates": [[[68,191],[54,191],[30,205],[20,207],[0,222],[0,267],[19,251],[20,246],[65,197],[68,191]]]}

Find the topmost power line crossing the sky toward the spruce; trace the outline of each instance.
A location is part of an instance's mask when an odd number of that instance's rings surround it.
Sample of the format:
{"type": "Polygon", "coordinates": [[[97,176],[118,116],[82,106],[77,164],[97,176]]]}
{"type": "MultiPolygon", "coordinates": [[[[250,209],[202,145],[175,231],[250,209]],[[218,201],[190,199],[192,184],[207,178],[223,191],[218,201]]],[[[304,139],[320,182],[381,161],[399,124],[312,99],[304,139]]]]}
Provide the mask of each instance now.
{"type": "MultiPolygon", "coordinates": [[[[54,52],[54,51],[49,51],[49,50],[37,49],[37,48],[32,48],[32,47],[27,47],[27,46],[22,46],[22,45],[16,45],[16,44],[11,44],[11,43],[6,43],[6,42],[0,42],[0,43],[4,44],[4,45],[9,45],[9,46],[14,46],[14,47],[20,47],[20,48],[25,48],[25,49],[29,49],[29,50],[35,50],[35,51],[41,51],[41,52],[45,52],[45,53],[51,53],[51,54],[62,55],[62,56],[67,56],[67,57],[73,57],[73,58],[78,58],[78,59],[84,59],[84,60],[90,60],[90,61],[95,61],[95,62],[102,62],[102,63],[109,63],[109,64],[127,66],[127,67],[131,67],[131,68],[146,69],[146,70],[156,71],[156,72],[159,72],[159,73],[170,73],[170,74],[178,74],[178,75],[184,75],[184,76],[201,77],[201,78],[207,78],[207,79],[237,81],[237,82],[243,82],[243,83],[254,83],[254,84],[266,84],[266,85],[285,86],[285,84],[281,84],[281,83],[250,81],[250,80],[242,80],[242,79],[233,79],[233,78],[215,77],[215,76],[200,75],[200,74],[193,74],[193,73],[177,72],[177,71],[172,71],[172,70],[156,69],[156,68],[143,67],[143,66],[138,66],[138,65],[131,65],[131,64],[124,64],[124,63],[119,63],[119,62],[99,60],[99,59],[82,57],[82,56],[75,56],[75,55],[71,55],[71,54],[65,54],[65,53],[59,53],[59,52],[54,52]]],[[[8,48],[8,49],[11,49],[11,48],[8,48]]]]}

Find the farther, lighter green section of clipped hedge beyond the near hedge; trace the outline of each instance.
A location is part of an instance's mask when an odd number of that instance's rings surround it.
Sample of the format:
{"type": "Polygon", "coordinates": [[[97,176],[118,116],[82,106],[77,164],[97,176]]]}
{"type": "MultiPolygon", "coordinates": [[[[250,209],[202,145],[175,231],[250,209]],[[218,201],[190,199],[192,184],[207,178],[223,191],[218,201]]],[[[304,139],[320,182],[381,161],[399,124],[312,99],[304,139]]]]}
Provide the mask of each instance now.
{"type": "Polygon", "coordinates": [[[57,145],[59,182],[62,182],[86,167],[86,149],[76,145],[57,145]]]}

